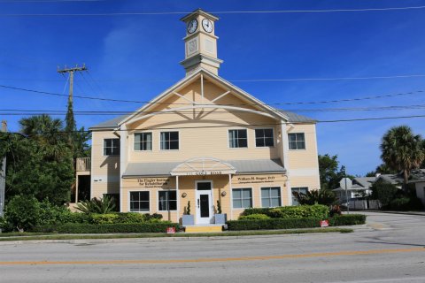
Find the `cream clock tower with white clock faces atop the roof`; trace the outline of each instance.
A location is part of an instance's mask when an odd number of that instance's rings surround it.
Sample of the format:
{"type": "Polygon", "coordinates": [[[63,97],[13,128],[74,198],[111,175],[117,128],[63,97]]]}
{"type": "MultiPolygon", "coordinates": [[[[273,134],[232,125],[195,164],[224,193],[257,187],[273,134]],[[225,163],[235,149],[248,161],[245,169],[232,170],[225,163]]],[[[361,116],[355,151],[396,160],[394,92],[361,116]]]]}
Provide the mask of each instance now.
{"type": "Polygon", "coordinates": [[[186,75],[198,68],[219,73],[223,61],[217,57],[218,37],[214,34],[215,21],[218,19],[201,9],[182,18],[186,24],[186,36],[183,38],[185,58],[181,64],[186,70],[186,75]]]}

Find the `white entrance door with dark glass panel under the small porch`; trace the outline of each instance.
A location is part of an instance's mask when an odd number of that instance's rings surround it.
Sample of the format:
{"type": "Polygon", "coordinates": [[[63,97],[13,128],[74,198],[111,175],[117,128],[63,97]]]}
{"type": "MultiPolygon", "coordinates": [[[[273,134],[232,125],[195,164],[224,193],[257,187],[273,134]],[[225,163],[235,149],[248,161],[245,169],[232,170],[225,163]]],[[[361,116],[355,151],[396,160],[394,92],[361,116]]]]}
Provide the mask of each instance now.
{"type": "Polygon", "coordinates": [[[210,224],[213,219],[212,182],[197,181],[197,224],[210,224]]]}

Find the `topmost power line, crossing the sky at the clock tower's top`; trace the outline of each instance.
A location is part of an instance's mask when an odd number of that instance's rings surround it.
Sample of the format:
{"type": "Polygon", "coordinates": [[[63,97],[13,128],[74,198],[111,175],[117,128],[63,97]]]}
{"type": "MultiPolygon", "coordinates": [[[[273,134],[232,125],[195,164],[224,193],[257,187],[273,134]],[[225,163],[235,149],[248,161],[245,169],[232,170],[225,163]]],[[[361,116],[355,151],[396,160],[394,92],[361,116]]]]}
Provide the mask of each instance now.
{"type": "MultiPolygon", "coordinates": [[[[425,6],[360,8],[360,9],[325,9],[325,10],[259,10],[259,11],[211,11],[213,14],[282,14],[282,13],[329,13],[354,11],[407,11],[422,10],[425,6]]],[[[103,12],[103,13],[4,13],[0,17],[105,17],[105,16],[161,16],[186,15],[193,11],[142,11],[142,12],[103,12]]]]}

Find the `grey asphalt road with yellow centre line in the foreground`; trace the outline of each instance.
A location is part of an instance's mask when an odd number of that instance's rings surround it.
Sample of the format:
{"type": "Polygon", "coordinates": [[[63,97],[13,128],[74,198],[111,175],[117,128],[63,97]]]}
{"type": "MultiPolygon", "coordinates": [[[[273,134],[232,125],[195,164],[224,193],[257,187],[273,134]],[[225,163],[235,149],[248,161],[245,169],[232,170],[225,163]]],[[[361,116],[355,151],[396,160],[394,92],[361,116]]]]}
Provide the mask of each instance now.
{"type": "Polygon", "coordinates": [[[0,282],[425,282],[425,216],[367,215],[344,234],[0,243],[0,282]]]}

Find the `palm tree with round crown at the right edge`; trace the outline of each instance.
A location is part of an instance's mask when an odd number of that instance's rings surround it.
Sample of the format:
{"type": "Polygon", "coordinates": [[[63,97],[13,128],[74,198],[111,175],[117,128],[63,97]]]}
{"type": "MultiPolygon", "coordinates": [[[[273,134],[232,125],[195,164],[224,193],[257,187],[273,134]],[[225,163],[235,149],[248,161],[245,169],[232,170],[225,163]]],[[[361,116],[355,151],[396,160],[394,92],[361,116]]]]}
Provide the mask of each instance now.
{"type": "Polygon", "coordinates": [[[410,172],[425,158],[420,134],[413,134],[409,126],[394,126],[383,135],[381,158],[390,169],[403,173],[403,188],[407,190],[410,172]]]}

